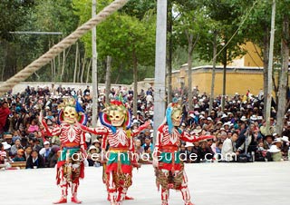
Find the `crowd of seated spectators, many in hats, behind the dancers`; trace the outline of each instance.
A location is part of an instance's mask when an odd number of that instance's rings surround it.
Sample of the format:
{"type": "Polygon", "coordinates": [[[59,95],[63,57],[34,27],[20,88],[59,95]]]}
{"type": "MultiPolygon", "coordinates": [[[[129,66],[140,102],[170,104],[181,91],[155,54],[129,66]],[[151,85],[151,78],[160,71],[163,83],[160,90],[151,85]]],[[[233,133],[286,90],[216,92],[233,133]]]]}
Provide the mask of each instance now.
{"type": "MultiPolygon", "coordinates": [[[[63,98],[73,96],[81,102],[88,116],[87,126],[92,126],[92,92],[90,86],[82,91],[74,88],[29,87],[23,93],[7,93],[0,99],[0,166],[9,167],[12,161],[26,161],[27,169],[54,167],[57,152],[60,150],[58,136],[47,136],[38,116],[43,111],[49,126],[58,124],[58,104],[63,98]]],[[[117,99],[133,106],[133,91],[121,86],[111,88],[110,99],[117,99]]],[[[198,86],[193,90],[189,109],[188,94],[184,90],[174,91],[173,101],[183,106],[183,121],[180,129],[193,135],[213,135],[214,138],[202,142],[180,142],[180,153],[189,163],[208,161],[283,161],[287,160],[290,135],[290,110],[285,113],[282,134],[275,132],[275,105],[271,108],[270,134],[266,135],[266,121],[263,118],[263,92],[257,95],[247,93],[226,96],[225,109],[221,107],[221,96],[213,102],[209,112],[209,96],[199,93],[198,86]],[[194,157],[192,157],[194,156],[194,157]]],[[[99,91],[99,109],[105,104],[104,92],[99,91]]],[[[151,120],[154,115],[153,89],[141,90],[137,99],[137,115],[133,116],[132,129],[151,120]]],[[[157,112],[157,111],[155,111],[157,112]]],[[[153,151],[153,128],[140,133],[135,139],[135,151],[147,153],[151,158],[153,151]]],[[[101,151],[102,136],[92,138],[85,134],[88,145],[89,165],[101,166],[92,161],[92,153],[101,151]]],[[[181,155],[180,155],[181,156],[181,155]]],[[[150,159],[149,159],[150,160],[150,159]]]]}

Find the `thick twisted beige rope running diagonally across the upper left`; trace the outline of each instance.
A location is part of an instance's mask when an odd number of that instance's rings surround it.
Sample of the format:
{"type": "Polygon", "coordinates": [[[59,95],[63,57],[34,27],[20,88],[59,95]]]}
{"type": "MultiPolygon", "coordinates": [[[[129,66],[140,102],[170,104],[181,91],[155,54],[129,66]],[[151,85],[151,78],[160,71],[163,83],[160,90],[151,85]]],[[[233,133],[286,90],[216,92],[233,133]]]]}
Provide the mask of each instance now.
{"type": "Polygon", "coordinates": [[[41,67],[43,67],[43,65],[49,63],[53,59],[53,57],[61,54],[64,49],[74,44],[79,38],[82,37],[83,34],[86,34],[90,30],[92,30],[92,28],[97,24],[102,23],[102,21],[104,21],[109,15],[119,10],[123,5],[126,5],[128,1],[129,0],[115,0],[111,3],[111,5],[105,7],[98,15],[91,18],[88,22],[78,27],[72,34],[65,37],[60,43],[55,44],[48,52],[40,56],[33,63],[27,65],[22,71],[16,73],[5,83],[1,83],[0,96],[11,90],[17,83],[23,82],[34,72],[38,71],[41,67]]]}

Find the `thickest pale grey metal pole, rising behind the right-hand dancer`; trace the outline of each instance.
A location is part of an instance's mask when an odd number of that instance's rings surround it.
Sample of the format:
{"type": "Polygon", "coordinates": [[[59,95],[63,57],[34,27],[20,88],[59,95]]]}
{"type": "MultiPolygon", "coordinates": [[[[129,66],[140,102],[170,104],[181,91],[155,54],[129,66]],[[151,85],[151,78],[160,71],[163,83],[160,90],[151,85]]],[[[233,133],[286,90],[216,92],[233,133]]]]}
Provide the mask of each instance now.
{"type": "Polygon", "coordinates": [[[165,116],[167,0],[157,2],[155,82],[154,82],[154,142],[165,116]]]}

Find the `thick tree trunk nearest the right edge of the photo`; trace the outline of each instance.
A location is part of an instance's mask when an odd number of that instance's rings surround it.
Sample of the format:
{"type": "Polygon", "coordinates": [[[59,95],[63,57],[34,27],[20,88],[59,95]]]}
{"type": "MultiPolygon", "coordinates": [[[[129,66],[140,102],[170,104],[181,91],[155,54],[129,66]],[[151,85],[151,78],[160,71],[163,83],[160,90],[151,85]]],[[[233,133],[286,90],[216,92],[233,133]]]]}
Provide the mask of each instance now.
{"type": "Polygon", "coordinates": [[[286,93],[287,93],[287,78],[288,78],[288,63],[289,63],[289,18],[285,15],[283,22],[283,34],[281,40],[282,47],[282,70],[279,83],[279,106],[277,109],[276,131],[280,136],[283,132],[286,110],[286,93]]]}

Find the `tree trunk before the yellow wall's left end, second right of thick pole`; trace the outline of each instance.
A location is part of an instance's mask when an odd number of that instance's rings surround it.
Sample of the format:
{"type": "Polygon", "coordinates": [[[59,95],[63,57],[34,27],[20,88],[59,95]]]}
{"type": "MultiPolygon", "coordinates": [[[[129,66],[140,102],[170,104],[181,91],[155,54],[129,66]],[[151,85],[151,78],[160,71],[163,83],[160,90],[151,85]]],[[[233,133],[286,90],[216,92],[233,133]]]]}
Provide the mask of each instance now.
{"type": "Polygon", "coordinates": [[[189,64],[189,111],[193,109],[192,107],[192,76],[191,76],[191,68],[192,68],[192,53],[193,53],[193,34],[189,34],[189,51],[188,51],[188,64],[189,64]]]}

